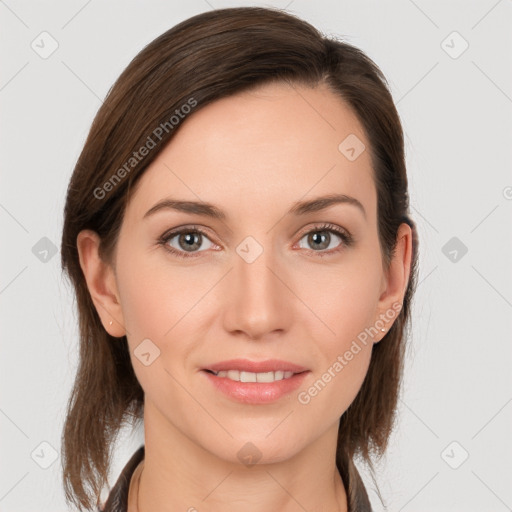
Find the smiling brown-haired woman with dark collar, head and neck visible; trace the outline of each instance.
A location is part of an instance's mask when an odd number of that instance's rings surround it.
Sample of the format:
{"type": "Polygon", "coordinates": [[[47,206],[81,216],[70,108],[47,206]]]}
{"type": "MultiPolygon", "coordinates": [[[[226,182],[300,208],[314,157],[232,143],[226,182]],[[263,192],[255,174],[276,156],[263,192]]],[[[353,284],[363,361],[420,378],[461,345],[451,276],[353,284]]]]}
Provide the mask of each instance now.
{"type": "Polygon", "coordinates": [[[416,280],[403,133],[360,50],[285,12],[144,48],[71,178],[80,322],[63,430],[80,510],[369,511],[416,280]],[[106,503],[124,422],[145,443],[106,503]]]}

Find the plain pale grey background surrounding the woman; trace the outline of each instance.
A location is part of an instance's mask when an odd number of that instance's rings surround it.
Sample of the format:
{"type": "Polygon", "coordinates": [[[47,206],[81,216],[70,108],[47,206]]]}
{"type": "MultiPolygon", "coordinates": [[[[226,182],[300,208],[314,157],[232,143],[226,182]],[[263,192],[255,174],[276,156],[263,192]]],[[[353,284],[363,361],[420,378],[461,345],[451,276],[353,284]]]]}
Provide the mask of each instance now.
{"type": "MultiPolygon", "coordinates": [[[[387,510],[511,510],[511,0],[0,1],[0,510],[67,510],[58,457],[78,338],[58,247],[93,116],[144,45],[236,5],[286,7],[366,51],[403,121],[421,256],[399,422],[377,466],[387,510]],[[43,31],[58,43],[47,58],[43,31]]],[[[113,480],[142,441],[122,433],[113,480]]]]}

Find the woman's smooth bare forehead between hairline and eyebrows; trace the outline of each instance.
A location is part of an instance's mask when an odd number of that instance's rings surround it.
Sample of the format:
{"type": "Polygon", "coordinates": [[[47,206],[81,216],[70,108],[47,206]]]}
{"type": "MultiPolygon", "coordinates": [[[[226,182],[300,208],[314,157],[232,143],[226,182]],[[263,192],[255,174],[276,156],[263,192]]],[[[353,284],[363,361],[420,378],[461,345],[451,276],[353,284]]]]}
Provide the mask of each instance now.
{"type": "Polygon", "coordinates": [[[141,177],[127,213],[140,219],[172,197],[218,204],[228,216],[275,216],[298,200],[340,193],[356,197],[371,219],[376,192],[368,150],[356,115],[325,86],[268,84],[182,121],[141,177]],[[362,152],[347,158],[348,146],[362,152]]]}

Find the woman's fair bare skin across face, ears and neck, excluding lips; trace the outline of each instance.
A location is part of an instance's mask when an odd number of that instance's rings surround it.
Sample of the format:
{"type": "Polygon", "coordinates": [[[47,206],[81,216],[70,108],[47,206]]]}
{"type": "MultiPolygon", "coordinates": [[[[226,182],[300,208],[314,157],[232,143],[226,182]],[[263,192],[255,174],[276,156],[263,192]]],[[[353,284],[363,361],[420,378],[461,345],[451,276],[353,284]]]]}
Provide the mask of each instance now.
{"type": "MultiPolygon", "coordinates": [[[[347,510],[334,459],[339,419],[384,332],[360,344],[308,404],[297,392],[272,404],[240,404],[200,370],[235,357],[284,359],[310,370],[299,391],[307,390],[359,333],[402,303],[411,229],[400,226],[385,268],[370,154],[349,161],[338,150],[349,134],[369,148],[357,117],[323,85],[272,84],[218,100],[191,114],[142,176],[114,265],[99,259],[96,233],[79,234],[97,311],[112,336],[127,335],[145,392],[141,512],[347,510]],[[357,198],[366,216],[349,204],[286,214],[296,201],[333,192],[357,198]],[[213,203],[227,218],[161,210],[143,219],[166,197],[213,203]],[[325,246],[308,242],[324,222],[349,231],[353,244],[344,246],[336,233],[325,246]],[[207,232],[195,257],[157,243],[169,229],[191,225],[207,232]],[[247,236],[263,248],[250,264],[236,252],[247,236]],[[160,349],[149,366],[133,352],[146,338],[160,349]],[[237,457],[247,442],[261,452],[251,467],[237,457]]],[[[191,254],[179,236],[168,245],[191,254]]]]}

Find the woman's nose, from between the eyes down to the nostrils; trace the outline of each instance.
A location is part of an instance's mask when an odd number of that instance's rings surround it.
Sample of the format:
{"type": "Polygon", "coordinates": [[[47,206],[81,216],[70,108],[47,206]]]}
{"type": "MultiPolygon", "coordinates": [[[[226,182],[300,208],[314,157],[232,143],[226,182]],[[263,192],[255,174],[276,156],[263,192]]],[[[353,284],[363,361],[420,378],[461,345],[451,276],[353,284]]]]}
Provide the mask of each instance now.
{"type": "Polygon", "coordinates": [[[261,247],[254,240],[242,243],[224,280],[225,329],[251,340],[287,331],[293,314],[289,274],[271,247],[261,247]]]}

